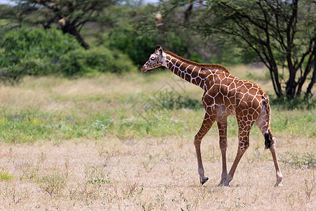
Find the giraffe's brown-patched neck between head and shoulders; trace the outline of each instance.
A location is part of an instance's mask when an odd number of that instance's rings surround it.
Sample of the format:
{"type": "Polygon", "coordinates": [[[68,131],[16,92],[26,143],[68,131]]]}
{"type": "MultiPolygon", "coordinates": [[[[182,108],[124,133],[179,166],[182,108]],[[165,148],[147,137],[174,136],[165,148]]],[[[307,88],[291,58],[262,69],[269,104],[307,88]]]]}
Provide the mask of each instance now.
{"type": "Polygon", "coordinates": [[[164,53],[163,64],[166,68],[179,77],[185,79],[187,82],[195,84],[205,91],[207,90],[205,82],[210,73],[209,71],[206,72],[204,68],[192,64],[187,60],[182,60],[166,52],[164,53]]]}

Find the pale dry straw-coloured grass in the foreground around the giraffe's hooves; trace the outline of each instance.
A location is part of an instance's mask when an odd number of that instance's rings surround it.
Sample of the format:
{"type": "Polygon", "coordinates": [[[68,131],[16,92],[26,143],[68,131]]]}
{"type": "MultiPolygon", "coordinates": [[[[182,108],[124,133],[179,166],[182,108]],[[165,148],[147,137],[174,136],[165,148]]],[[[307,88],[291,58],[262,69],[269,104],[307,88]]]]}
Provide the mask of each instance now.
{"type": "MultiPolygon", "coordinates": [[[[119,139],[67,141],[60,145],[1,144],[0,163],[14,176],[0,183],[0,210],[314,210],[315,169],[281,163],[284,186],[274,187],[275,171],[262,140],[252,140],[230,187],[218,187],[220,151],[216,136],[202,143],[209,181],[199,185],[190,140],[119,139]],[[259,142],[259,143],[258,143],[259,142]],[[260,145],[261,147],[256,147],[260,145]]],[[[299,142],[294,153],[315,148],[299,142]]],[[[229,139],[228,165],[237,140],[229,139]]]]}

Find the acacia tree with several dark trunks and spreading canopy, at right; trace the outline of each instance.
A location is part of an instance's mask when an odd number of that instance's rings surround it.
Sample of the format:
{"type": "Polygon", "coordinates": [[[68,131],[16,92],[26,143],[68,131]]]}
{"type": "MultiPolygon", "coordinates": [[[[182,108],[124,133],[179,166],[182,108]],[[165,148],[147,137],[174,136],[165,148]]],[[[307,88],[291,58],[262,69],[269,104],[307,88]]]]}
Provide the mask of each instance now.
{"type": "MultiPolygon", "coordinates": [[[[316,4],[299,0],[165,1],[164,7],[187,6],[183,25],[206,36],[235,38],[237,46],[254,49],[270,70],[275,94],[312,96],[316,79],[316,4]],[[195,9],[192,9],[192,6],[195,9]],[[190,20],[187,11],[190,11],[190,20]],[[284,72],[288,71],[288,72],[284,72]],[[309,77],[309,78],[308,78],[309,77]],[[305,91],[303,84],[310,81],[305,91]]],[[[165,10],[170,11],[170,10],[165,10]]],[[[164,13],[164,16],[168,16],[164,13]]],[[[165,18],[166,19],[166,18],[165,18]]],[[[173,20],[171,24],[174,24],[173,20]]]]}

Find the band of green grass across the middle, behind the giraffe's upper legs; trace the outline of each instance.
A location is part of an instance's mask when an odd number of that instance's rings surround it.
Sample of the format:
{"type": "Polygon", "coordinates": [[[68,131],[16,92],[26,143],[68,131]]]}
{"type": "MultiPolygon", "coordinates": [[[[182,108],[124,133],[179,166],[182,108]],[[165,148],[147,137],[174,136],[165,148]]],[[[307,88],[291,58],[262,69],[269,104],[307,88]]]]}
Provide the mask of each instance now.
{"type": "MultiPolygon", "coordinates": [[[[121,96],[121,98],[126,98],[126,96],[121,96]]],[[[86,98],[77,104],[98,104],[98,101],[86,98]]],[[[113,101],[120,101],[120,99],[114,98],[113,101]]],[[[134,101],[144,103],[141,96],[134,98],[134,101]]],[[[158,106],[161,104],[159,103],[158,106]]],[[[154,107],[149,110],[140,110],[139,106],[129,110],[126,110],[124,106],[116,107],[114,110],[107,108],[102,113],[94,114],[88,107],[77,108],[80,110],[79,114],[73,113],[69,116],[59,112],[47,113],[39,110],[26,111],[20,115],[6,115],[0,117],[0,140],[6,143],[32,143],[39,140],[58,141],[82,138],[100,140],[106,136],[117,136],[119,139],[194,136],[204,116],[202,108],[190,109],[190,106],[183,108],[181,103],[172,105],[171,108],[154,107]]],[[[65,110],[65,113],[67,112],[69,113],[69,110],[65,110]]],[[[316,136],[315,122],[314,110],[303,112],[272,108],[271,127],[275,136],[285,134],[291,138],[313,138],[316,136]]],[[[228,136],[237,136],[236,118],[230,116],[228,125],[228,136]]],[[[216,130],[213,126],[209,134],[217,134],[216,130]]],[[[256,126],[251,129],[251,136],[263,139],[256,126]]]]}

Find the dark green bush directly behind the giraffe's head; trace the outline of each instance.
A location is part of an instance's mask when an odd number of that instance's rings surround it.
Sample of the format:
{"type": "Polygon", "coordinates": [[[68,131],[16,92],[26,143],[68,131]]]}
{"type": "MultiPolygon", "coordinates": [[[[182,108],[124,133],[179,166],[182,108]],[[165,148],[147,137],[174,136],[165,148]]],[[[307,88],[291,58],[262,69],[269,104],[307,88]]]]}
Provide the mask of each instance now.
{"type": "Polygon", "coordinates": [[[118,27],[112,31],[107,45],[126,53],[136,65],[140,66],[147,61],[157,45],[162,45],[165,50],[173,51],[184,58],[202,62],[202,56],[199,51],[192,48],[192,43],[195,43],[192,37],[187,37],[183,32],[176,30],[164,32],[154,29],[153,32],[147,33],[118,27]]]}

